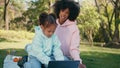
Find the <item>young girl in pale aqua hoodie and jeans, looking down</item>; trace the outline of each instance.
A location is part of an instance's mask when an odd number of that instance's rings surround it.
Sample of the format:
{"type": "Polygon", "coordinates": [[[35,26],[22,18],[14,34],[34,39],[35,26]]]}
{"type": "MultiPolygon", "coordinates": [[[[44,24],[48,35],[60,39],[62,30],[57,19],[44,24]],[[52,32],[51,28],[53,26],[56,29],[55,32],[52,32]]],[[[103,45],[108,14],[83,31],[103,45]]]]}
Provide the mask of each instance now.
{"type": "Polygon", "coordinates": [[[60,41],[54,34],[56,29],[55,16],[53,14],[42,13],[39,16],[39,26],[35,27],[35,36],[26,51],[29,61],[25,63],[25,68],[41,68],[41,64],[47,67],[51,60],[64,60],[60,50],[60,41]]]}

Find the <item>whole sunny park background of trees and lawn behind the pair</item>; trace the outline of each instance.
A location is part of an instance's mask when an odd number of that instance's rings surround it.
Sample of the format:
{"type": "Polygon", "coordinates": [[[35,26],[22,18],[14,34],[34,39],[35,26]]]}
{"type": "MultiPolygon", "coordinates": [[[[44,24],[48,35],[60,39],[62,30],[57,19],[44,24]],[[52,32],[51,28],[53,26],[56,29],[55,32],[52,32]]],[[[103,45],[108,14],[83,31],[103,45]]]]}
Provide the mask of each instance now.
{"type": "MultiPolygon", "coordinates": [[[[56,0],[0,0],[0,68],[8,51],[24,56],[41,12],[53,12],[56,0]]],[[[80,56],[87,68],[120,68],[120,0],[75,0],[80,56]]]]}

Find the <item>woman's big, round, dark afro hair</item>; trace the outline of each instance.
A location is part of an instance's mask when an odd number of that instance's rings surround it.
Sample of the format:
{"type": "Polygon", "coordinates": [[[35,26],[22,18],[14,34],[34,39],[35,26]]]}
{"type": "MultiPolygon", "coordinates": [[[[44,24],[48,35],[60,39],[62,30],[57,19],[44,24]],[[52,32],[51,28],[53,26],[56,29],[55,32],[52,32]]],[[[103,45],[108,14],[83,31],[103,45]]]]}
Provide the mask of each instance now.
{"type": "Polygon", "coordinates": [[[54,7],[54,13],[56,14],[57,18],[59,18],[60,10],[65,10],[68,8],[70,11],[68,19],[71,21],[74,21],[80,12],[79,3],[69,0],[56,1],[53,7],[54,7]]]}

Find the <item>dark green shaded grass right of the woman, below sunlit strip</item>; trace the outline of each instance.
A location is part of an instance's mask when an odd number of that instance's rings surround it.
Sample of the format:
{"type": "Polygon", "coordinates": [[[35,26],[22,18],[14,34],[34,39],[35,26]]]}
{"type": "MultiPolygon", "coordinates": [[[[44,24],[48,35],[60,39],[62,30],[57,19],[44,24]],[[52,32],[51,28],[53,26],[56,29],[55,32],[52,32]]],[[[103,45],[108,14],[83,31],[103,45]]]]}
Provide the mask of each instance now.
{"type": "Polygon", "coordinates": [[[81,52],[87,68],[120,68],[120,54],[104,52],[81,52]]]}

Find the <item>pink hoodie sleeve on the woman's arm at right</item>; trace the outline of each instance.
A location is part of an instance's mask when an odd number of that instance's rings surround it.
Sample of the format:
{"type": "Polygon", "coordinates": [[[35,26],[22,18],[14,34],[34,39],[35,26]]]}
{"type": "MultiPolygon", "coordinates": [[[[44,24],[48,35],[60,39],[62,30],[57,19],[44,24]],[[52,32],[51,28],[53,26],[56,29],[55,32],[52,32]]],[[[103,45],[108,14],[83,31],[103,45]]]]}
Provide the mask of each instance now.
{"type": "Polygon", "coordinates": [[[71,44],[70,44],[70,55],[74,60],[79,60],[80,63],[82,63],[82,60],[80,59],[80,36],[79,36],[79,30],[76,30],[72,34],[71,44]]]}

